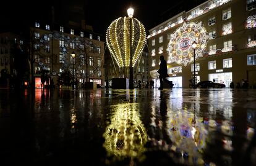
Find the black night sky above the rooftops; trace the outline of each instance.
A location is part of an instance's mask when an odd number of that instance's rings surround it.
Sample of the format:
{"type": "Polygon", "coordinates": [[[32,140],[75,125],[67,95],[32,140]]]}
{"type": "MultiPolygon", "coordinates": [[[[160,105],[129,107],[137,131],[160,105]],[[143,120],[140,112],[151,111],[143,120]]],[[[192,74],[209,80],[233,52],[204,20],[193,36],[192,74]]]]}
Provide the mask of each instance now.
{"type": "Polygon", "coordinates": [[[134,17],[140,20],[148,30],[158,25],[173,15],[182,12],[183,10],[190,10],[193,7],[205,2],[205,0],[179,0],[166,1],[104,1],[104,0],[52,0],[52,1],[34,1],[33,3],[25,1],[9,1],[5,7],[0,10],[0,29],[8,30],[7,27],[21,29],[22,26],[27,25],[35,19],[50,20],[51,6],[55,9],[55,20],[65,20],[65,18],[72,17],[79,20],[77,15],[83,14],[88,25],[93,26],[96,33],[105,36],[108,26],[118,17],[127,16],[127,9],[132,6],[134,8],[134,17]],[[44,4],[41,4],[44,3],[44,4]],[[72,12],[68,12],[71,9],[72,12]],[[85,9],[83,12],[81,9],[85,9]],[[9,25],[9,26],[7,26],[9,25]]]}

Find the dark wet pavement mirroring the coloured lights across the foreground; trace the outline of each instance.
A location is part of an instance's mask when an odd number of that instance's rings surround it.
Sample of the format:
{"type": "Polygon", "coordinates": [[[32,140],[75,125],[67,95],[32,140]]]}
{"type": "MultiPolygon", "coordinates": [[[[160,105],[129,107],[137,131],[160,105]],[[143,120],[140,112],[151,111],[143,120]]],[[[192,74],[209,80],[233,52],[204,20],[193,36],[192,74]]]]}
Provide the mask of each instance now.
{"type": "Polygon", "coordinates": [[[0,90],[0,165],[256,165],[255,89],[0,90]]]}

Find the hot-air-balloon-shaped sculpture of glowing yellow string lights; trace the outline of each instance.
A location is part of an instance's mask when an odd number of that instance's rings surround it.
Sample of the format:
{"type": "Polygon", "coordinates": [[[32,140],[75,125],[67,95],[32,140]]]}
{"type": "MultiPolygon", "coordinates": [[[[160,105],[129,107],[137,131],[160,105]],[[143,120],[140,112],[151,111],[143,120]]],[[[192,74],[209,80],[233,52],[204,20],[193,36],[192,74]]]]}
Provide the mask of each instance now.
{"type": "Polygon", "coordinates": [[[119,68],[130,65],[130,40],[132,40],[132,67],[134,67],[146,42],[145,28],[136,18],[119,17],[109,25],[106,31],[106,44],[119,68]],[[130,35],[130,19],[132,34],[130,35]]]}

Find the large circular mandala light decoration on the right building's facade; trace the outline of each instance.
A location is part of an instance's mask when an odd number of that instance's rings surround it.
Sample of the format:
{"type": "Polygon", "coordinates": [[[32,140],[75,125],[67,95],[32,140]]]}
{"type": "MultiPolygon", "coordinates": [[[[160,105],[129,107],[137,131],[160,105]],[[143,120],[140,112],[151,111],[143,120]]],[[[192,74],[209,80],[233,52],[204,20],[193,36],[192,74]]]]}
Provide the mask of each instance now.
{"type": "Polygon", "coordinates": [[[197,42],[195,48],[195,59],[203,56],[203,50],[207,46],[208,40],[207,30],[202,26],[202,22],[184,22],[173,34],[168,44],[168,53],[171,57],[171,62],[183,64],[194,61],[194,49],[192,42],[197,42]]]}

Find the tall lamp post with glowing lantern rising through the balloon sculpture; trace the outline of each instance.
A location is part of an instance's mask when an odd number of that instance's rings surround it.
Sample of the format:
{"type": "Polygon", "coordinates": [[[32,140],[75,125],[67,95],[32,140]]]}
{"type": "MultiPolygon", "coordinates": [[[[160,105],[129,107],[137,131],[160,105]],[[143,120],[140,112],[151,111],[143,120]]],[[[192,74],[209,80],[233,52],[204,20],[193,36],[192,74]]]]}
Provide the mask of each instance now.
{"type": "Polygon", "coordinates": [[[130,18],[130,65],[129,65],[129,89],[134,89],[134,69],[132,68],[132,17],[134,16],[134,9],[131,7],[127,10],[130,18]]]}

